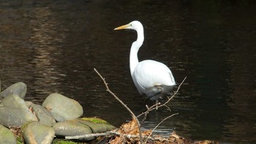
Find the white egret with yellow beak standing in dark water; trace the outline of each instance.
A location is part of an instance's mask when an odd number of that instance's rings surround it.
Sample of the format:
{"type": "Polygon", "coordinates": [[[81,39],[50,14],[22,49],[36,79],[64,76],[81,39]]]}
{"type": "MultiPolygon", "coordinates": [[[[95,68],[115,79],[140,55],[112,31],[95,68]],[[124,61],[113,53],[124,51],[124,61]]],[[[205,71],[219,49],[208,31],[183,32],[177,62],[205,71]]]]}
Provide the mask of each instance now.
{"type": "Polygon", "coordinates": [[[156,102],[162,99],[162,96],[170,95],[170,91],[176,85],[170,69],[158,61],[138,61],[138,50],[144,41],[143,25],[135,20],[114,30],[119,29],[133,29],[138,34],[129,53],[129,69],[140,94],[146,94],[147,99],[156,100],[156,102]]]}

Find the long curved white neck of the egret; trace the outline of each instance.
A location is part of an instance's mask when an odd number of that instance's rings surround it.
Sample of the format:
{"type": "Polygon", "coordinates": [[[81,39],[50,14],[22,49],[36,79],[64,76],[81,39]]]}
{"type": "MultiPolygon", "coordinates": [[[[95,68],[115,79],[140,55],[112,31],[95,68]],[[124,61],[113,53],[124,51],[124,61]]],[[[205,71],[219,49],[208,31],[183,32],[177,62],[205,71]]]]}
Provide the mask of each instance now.
{"type": "Polygon", "coordinates": [[[137,64],[139,64],[138,50],[140,49],[144,41],[143,27],[141,29],[137,29],[136,31],[137,31],[138,37],[137,37],[137,40],[132,43],[132,47],[129,52],[129,70],[131,72],[131,75],[134,72],[137,64]]]}

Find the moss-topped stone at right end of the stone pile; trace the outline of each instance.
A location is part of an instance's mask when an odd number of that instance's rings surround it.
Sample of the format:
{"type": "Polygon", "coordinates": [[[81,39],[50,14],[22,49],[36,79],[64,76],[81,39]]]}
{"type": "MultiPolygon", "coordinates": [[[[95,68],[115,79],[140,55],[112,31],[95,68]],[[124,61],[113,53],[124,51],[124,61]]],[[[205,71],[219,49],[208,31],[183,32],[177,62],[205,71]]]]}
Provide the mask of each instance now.
{"type": "Polygon", "coordinates": [[[79,118],[77,121],[89,126],[94,133],[108,132],[112,129],[116,129],[115,126],[108,124],[107,121],[100,118],[79,118]]]}

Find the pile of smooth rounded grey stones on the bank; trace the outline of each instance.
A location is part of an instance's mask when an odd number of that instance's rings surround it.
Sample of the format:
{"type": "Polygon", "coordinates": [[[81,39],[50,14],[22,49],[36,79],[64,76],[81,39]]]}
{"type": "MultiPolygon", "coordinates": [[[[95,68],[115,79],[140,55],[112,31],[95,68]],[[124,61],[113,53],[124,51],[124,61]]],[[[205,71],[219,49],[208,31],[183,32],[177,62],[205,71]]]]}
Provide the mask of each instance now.
{"type": "MultiPolygon", "coordinates": [[[[83,107],[74,99],[50,94],[42,105],[24,101],[26,84],[19,82],[0,94],[0,143],[16,143],[11,129],[20,129],[26,143],[52,143],[55,137],[77,136],[115,129],[99,118],[80,118],[83,107]]],[[[93,140],[86,137],[81,140],[93,140]]]]}

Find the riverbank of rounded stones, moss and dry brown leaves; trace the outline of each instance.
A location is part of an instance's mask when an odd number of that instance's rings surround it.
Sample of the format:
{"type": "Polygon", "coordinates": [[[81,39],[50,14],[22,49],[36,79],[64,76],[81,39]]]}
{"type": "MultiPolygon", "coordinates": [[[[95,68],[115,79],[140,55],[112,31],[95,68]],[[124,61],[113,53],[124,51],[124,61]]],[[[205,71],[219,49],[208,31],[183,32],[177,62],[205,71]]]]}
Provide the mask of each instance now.
{"type": "Polygon", "coordinates": [[[26,91],[22,82],[1,91],[0,143],[215,143],[162,137],[151,129],[140,135],[135,119],[116,129],[101,118],[81,118],[83,107],[75,99],[55,93],[37,105],[24,100],[26,91]]]}

